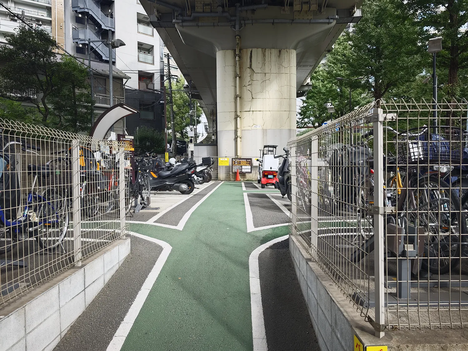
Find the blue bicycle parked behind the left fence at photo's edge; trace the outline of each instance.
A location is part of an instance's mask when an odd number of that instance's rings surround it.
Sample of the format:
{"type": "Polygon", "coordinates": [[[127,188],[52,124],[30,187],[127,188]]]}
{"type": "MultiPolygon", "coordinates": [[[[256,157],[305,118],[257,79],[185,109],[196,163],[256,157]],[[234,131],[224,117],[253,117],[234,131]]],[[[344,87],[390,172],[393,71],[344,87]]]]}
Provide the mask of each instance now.
{"type": "Polygon", "coordinates": [[[69,225],[66,188],[48,185],[42,187],[40,194],[35,192],[36,188],[39,189],[39,181],[45,185],[53,183],[49,182],[54,176],[50,165],[27,166],[28,175],[33,176],[33,181],[26,204],[22,205],[15,154],[6,152],[8,147],[15,144],[26,146],[19,141],[9,142],[0,153],[0,255],[14,249],[19,241],[29,238],[35,238],[42,249],[54,249],[64,240],[69,225]]]}

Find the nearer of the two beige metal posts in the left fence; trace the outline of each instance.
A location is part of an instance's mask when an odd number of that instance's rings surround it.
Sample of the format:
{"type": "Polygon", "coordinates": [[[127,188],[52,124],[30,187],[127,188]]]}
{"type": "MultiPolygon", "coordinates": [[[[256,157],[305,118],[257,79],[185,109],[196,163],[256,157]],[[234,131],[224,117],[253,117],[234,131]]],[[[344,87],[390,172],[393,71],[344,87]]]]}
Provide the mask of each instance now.
{"type": "Polygon", "coordinates": [[[73,251],[76,266],[81,265],[81,182],[80,182],[80,142],[72,140],[72,213],[73,251]]]}

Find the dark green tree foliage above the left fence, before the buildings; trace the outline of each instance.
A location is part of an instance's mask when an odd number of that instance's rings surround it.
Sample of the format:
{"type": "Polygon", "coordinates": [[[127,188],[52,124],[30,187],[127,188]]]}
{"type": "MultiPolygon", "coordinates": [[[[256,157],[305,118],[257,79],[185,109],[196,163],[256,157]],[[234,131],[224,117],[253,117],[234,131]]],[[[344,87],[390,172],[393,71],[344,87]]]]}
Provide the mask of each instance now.
{"type": "Polygon", "coordinates": [[[0,96],[36,106],[39,122],[72,132],[87,131],[91,120],[88,70],[54,52],[56,41],[42,29],[19,27],[0,46],[0,96]]]}

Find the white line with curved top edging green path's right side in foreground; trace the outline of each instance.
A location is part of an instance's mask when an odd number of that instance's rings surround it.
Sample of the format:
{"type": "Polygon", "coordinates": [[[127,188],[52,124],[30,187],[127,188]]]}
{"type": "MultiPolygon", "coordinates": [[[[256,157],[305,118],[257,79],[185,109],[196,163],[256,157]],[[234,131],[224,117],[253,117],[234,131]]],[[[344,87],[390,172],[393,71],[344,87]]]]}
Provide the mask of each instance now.
{"type": "Polygon", "coordinates": [[[276,244],[279,241],[287,239],[289,235],[268,241],[256,248],[249,256],[249,276],[250,276],[250,307],[252,310],[252,336],[254,351],[267,351],[268,345],[265,333],[265,322],[263,321],[262,292],[260,291],[260,273],[258,269],[258,256],[260,253],[276,244]]]}

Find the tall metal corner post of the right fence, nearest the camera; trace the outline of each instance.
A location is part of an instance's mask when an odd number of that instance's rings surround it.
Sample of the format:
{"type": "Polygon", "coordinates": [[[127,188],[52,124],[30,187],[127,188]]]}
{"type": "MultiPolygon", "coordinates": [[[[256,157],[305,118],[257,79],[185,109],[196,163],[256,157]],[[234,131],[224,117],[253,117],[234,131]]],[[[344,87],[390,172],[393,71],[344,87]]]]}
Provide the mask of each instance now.
{"type": "Polygon", "coordinates": [[[382,109],[371,111],[374,132],[374,277],[375,277],[375,336],[383,337],[385,325],[384,296],[384,164],[382,109]]]}

